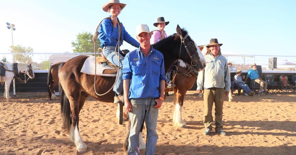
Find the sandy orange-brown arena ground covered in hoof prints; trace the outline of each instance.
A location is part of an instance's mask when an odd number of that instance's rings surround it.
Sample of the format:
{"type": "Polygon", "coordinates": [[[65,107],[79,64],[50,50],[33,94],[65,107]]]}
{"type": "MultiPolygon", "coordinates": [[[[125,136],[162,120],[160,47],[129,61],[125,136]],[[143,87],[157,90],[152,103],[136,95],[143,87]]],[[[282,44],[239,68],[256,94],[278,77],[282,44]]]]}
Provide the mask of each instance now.
{"type": "MultiPolygon", "coordinates": [[[[296,93],[234,96],[230,103],[225,99],[227,136],[202,135],[203,99],[194,93],[187,92],[184,102],[182,117],[188,129],[172,126],[173,95],[163,103],[155,154],[296,154],[296,93]]],[[[81,154],[62,130],[59,100],[50,101],[47,93],[17,93],[10,100],[0,95],[0,154],[81,154]]],[[[88,146],[85,154],[125,154],[128,122],[115,121],[116,109],[87,99],[79,122],[88,146]]],[[[146,140],[146,130],[143,136],[146,140]]]]}

